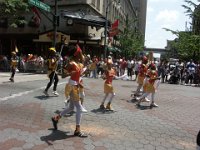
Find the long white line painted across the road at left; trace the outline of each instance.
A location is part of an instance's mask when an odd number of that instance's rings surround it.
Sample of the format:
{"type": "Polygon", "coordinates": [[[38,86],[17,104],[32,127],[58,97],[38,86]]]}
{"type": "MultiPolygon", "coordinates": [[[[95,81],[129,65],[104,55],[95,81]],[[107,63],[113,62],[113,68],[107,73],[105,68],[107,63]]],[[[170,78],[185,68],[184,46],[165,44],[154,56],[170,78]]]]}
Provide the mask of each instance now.
{"type": "MultiPolygon", "coordinates": [[[[61,84],[66,84],[66,82],[61,82],[61,83],[58,83],[58,85],[61,85],[61,84]]],[[[7,101],[9,99],[13,99],[13,98],[16,98],[16,97],[20,97],[22,95],[27,95],[29,93],[33,93],[33,92],[36,92],[38,90],[42,90],[46,88],[46,86],[43,86],[43,87],[40,87],[40,88],[37,88],[37,89],[33,89],[33,90],[29,90],[29,91],[24,91],[24,92],[20,92],[20,93],[16,93],[16,94],[12,94],[11,96],[6,96],[6,97],[3,97],[3,98],[0,98],[0,102],[2,101],[7,101]]]]}

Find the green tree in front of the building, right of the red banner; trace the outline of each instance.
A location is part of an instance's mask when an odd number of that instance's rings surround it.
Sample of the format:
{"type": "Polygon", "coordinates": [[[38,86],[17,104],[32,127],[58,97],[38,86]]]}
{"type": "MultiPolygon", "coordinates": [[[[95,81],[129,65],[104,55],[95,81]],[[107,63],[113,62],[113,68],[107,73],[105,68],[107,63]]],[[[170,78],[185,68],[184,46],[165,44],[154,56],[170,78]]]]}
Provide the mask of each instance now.
{"type": "Polygon", "coordinates": [[[135,27],[135,20],[126,20],[124,31],[119,35],[119,41],[126,57],[137,55],[144,48],[144,36],[135,27]]]}

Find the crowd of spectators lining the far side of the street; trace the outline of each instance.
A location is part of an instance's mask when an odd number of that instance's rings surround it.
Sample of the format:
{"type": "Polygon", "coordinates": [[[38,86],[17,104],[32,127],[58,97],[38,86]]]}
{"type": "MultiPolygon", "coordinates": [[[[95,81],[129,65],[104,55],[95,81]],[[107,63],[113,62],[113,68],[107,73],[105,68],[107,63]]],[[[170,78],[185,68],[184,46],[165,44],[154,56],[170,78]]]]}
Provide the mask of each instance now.
{"type": "MultiPolygon", "coordinates": [[[[45,65],[47,58],[45,57],[28,54],[18,56],[18,59],[18,70],[21,72],[45,73],[47,70],[45,65]]],[[[85,59],[85,66],[87,66],[85,76],[90,78],[101,77],[106,69],[107,59],[98,58],[97,56],[91,57],[90,55],[86,55],[85,59]]],[[[125,59],[124,57],[112,59],[117,76],[122,76],[126,73],[128,76],[127,80],[137,79],[139,64],[141,63],[139,59],[125,59]]],[[[62,73],[62,66],[67,62],[67,57],[60,57],[58,63],[58,71],[60,73],[62,73]]],[[[200,63],[195,63],[193,60],[189,62],[169,60],[156,62],[156,66],[162,83],[200,85],[200,63]]],[[[0,56],[0,70],[10,71],[8,57],[0,56]]]]}

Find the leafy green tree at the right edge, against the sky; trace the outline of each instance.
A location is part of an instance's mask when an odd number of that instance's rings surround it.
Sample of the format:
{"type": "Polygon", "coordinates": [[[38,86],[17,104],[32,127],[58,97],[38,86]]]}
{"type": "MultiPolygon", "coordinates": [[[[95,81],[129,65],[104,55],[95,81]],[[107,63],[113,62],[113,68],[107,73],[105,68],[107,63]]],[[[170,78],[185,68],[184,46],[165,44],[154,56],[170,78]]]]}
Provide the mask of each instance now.
{"type": "MultiPolygon", "coordinates": [[[[177,36],[171,44],[171,52],[177,52],[177,55],[180,59],[188,60],[193,58],[194,60],[200,60],[200,34],[198,32],[194,32],[195,28],[199,28],[199,26],[194,26],[194,18],[200,18],[200,9],[198,5],[185,0],[185,2],[189,5],[182,5],[186,9],[186,14],[193,20],[193,30],[192,31],[173,31],[167,28],[164,28],[166,31],[170,31],[172,34],[177,36]],[[194,8],[191,8],[191,6],[194,8]]],[[[200,2],[200,0],[199,0],[200,2]]]]}

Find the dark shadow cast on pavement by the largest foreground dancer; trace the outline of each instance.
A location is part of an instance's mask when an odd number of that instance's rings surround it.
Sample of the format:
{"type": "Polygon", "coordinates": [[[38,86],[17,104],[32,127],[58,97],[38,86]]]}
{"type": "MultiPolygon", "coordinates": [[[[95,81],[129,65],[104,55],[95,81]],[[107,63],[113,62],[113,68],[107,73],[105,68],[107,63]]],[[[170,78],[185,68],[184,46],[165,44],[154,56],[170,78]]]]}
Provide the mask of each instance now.
{"type": "Polygon", "coordinates": [[[57,141],[57,140],[63,140],[63,139],[75,137],[74,135],[67,135],[67,133],[70,133],[69,131],[64,132],[64,131],[54,130],[54,129],[49,129],[49,130],[52,130],[51,134],[40,137],[40,140],[46,142],[48,145],[53,145],[52,142],[57,141]]]}

